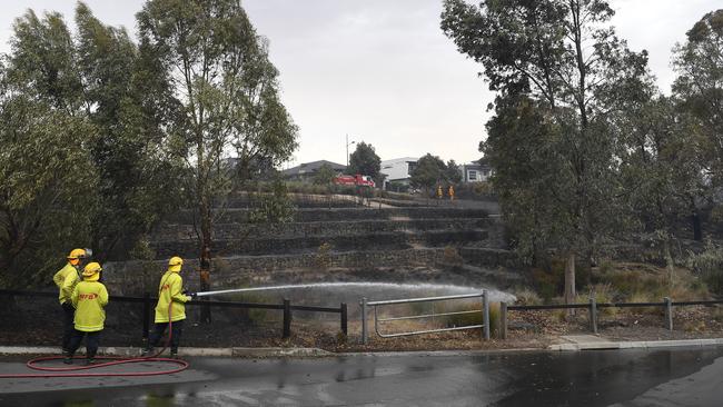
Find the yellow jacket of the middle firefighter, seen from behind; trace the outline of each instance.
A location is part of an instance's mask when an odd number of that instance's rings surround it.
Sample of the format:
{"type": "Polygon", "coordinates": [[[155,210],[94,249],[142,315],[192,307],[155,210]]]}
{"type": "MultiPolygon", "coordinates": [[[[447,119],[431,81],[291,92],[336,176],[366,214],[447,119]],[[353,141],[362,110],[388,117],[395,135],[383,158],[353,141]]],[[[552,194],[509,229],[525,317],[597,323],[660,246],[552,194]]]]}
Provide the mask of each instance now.
{"type": "Polygon", "coordinates": [[[80,281],[72,291],[72,305],[76,307],[76,329],[95,332],[103,329],[108,304],[108,290],[102,282],[80,281]]]}

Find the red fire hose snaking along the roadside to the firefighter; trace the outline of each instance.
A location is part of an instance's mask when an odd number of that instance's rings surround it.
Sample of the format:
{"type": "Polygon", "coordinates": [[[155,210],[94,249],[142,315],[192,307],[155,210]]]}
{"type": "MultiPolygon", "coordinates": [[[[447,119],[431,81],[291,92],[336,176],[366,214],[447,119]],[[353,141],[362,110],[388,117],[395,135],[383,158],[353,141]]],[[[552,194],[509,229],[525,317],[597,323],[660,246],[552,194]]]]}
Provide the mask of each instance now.
{"type": "Polygon", "coordinates": [[[98,356],[96,357],[97,359],[107,359],[111,361],[106,361],[101,364],[93,364],[93,365],[86,365],[86,366],[73,366],[73,367],[46,367],[46,366],[39,366],[37,364],[41,361],[48,361],[48,360],[58,360],[62,359],[63,356],[41,356],[37,357],[33,359],[28,360],[26,364],[27,367],[33,370],[41,370],[41,371],[48,371],[44,374],[7,374],[7,375],[0,375],[0,379],[3,378],[50,378],[50,377],[126,377],[126,376],[136,376],[136,377],[142,377],[142,376],[159,376],[159,375],[170,375],[175,373],[179,373],[182,370],[186,370],[188,368],[188,361],[182,360],[182,359],[172,359],[172,358],[161,358],[159,357],[167,348],[168,345],[171,341],[172,337],[172,328],[174,328],[174,322],[171,321],[171,307],[172,307],[172,301],[171,304],[168,305],[168,336],[166,337],[166,343],[164,344],[164,348],[160,349],[158,353],[156,353],[152,356],[143,356],[143,357],[135,357],[135,358],[123,358],[121,356],[98,356]],[[172,368],[172,369],[165,369],[165,370],[148,370],[148,371],[123,371],[123,373],[88,373],[88,371],[80,371],[80,373],[69,373],[69,371],[78,371],[78,370],[88,370],[88,369],[97,369],[101,367],[108,367],[108,366],[117,366],[117,365],[125,365],[125,364],[138,364],[138,363],[143,363],[143,361],[161,361],[161,363],[170,363],[170,364],[176,364],[178,367],[172,368]]]}

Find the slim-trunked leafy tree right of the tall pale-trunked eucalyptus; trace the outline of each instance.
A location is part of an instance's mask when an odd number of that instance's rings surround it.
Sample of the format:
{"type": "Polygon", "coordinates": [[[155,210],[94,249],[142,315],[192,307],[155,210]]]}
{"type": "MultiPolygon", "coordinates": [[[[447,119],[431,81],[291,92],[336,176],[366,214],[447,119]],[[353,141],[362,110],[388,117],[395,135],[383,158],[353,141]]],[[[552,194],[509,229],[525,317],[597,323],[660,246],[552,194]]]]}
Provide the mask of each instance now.
{"type": "MultiPolygon", "coordinates": [[[[652,89],[656,91],[655,89],[652,89]]],[[[673,98],[651,93],[615,117],[627,219],[661,248],[674,277],[673,242],[704,186],[701,143],[690,115],[673,98]]]]}

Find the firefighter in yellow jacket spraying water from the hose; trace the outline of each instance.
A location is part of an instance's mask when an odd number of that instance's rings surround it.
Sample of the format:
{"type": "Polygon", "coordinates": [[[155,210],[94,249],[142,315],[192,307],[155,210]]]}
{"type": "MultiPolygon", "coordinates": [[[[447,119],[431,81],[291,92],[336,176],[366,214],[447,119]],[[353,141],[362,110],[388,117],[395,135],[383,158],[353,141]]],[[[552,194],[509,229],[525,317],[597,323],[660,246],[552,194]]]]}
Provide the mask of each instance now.
{"type": "Polygon", "coordinates": [[[153,353],[153,347],[164,336],[169,321],[171,322],[170,355],[174,358],[178,355],[178,344],[184,331],[184,319],[186,319],[185,304],[196,296],[195,294],[184,294],[184,279],[180,276],[182,266],[184,259],[171,257],[168,260],[168,270],[160,278],[158,304],[156,305],[156,326],[148,338],[148,347],[143,350],[143,356],[153,353]]]}

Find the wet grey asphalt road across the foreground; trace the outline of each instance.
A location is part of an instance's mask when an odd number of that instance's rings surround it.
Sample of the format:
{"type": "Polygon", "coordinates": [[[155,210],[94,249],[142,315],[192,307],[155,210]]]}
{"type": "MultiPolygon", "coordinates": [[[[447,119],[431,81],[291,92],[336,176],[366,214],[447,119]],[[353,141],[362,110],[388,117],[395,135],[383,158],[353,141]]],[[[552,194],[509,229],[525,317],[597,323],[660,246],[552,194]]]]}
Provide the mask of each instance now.
{"type": "MultiPolygon", "coordinates": [[[[0,360],[0,374],[24,371],[0,360]]],[[[0,405],[717,407],[723,395],[723,348],[189,361],[162,377],[0,379],[0,405]]]]}

